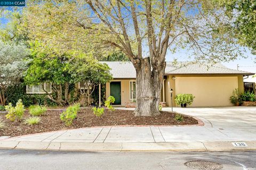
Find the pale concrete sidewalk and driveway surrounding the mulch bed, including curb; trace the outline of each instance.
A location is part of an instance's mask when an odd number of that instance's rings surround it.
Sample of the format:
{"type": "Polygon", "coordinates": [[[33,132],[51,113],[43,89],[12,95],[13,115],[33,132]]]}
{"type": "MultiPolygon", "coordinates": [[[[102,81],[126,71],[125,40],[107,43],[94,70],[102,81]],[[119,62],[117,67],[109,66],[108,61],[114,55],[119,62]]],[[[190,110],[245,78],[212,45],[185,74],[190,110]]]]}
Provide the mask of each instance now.
{"type": "MultiPolygon", "coordinates": [[[[124,108],[118,108],[124,109],[124,108]]],[[[171,108],[164,108],[170,110],[171,108]]],[[[48,150],[233,150],[256,149],[256,108],[174,108],[204,126],[95,127],[6,138],[0,148],[48,150]],[[234,147],[232,142],[247,147],[234,147]]]]}

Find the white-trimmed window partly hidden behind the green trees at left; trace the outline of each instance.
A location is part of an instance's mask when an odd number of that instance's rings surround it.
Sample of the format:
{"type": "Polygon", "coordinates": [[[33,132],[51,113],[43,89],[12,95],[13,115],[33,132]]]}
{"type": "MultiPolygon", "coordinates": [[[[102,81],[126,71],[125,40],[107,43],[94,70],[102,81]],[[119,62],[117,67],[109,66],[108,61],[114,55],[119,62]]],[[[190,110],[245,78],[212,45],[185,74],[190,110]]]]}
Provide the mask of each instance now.
{"type": "Polygon", "coordinates": [[[46,92],[52,93],[52,86],[51,83],[41,83],[38,85],[27,85],[27,93],[28,94],[45,94],[43,90],[43,86],[46,92]]]}

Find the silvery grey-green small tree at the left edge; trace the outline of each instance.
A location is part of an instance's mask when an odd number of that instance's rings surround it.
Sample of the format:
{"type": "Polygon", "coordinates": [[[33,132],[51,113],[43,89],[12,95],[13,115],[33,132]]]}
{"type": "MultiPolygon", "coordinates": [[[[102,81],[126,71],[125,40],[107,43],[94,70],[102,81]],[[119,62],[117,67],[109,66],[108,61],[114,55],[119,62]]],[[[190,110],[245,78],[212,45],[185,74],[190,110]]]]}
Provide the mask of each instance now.
{"type": "Polygon", "coordinates": [[[5,91],[18,82],[27,68],[29,51],[25,45],[0,41],[0,102],[5,105],[5,91]]]}

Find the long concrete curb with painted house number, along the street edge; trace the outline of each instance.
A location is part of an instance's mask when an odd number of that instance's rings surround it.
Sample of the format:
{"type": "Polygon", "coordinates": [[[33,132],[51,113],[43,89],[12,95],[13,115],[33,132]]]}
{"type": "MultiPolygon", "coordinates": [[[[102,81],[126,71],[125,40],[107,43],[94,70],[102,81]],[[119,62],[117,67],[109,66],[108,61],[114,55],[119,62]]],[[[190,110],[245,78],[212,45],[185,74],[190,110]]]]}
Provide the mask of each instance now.
{"type": "MultiPolygon", "coordinates": [[[[54,151],[234,151],[256,150],[256,141],[246,141],[247,147],[234,147],[233,141],[165,142],[165,143],[82,143],[0,141],[0,149],[54,151]]],[[[234,141],[237,142],[237,141],[234,141]]]]}

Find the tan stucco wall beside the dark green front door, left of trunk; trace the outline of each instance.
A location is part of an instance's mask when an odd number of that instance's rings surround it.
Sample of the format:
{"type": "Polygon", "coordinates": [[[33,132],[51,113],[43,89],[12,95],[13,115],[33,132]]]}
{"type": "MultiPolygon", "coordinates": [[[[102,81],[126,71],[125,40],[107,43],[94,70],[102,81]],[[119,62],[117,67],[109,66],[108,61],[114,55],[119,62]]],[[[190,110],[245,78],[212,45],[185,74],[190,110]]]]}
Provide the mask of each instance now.
{"type": "MultiPolygon", "coordinates": [[[[121,82],[121,106],[125,106],[126,102],[131,102],[129,97],[130,79],[122,79],[122,80],[116,79],[116,80],[112,80],[111,82],[121,82]]],[[[110,95],[110,83],[106,83],[106,98],[108,98],[109,95],[110,95]]]]}

